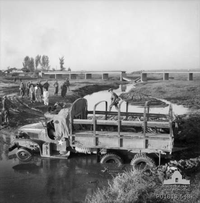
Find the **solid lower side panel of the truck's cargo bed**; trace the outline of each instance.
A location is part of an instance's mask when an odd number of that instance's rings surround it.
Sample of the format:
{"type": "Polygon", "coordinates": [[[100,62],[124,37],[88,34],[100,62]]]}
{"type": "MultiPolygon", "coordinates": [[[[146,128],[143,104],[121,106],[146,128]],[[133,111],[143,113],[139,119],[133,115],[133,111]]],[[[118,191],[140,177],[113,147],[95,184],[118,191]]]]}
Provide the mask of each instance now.
{"type": "Polygon", "coordinates": [[[169,134],[110,131],[76,131],[71,136],[72,146],[82,148],[126,149],[143,151],[170,151],[171,138],[169,134]]]}

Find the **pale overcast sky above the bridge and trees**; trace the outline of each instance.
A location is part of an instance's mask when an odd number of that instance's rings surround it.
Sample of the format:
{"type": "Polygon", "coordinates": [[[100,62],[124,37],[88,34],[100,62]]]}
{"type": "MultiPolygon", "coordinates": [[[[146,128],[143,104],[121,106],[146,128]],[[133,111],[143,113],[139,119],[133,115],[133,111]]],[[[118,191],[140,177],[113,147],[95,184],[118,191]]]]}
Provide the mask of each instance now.
{"type": "Polygon", "coordinates": [[[47,55],[59,69],[200,68],[200,0],[0,0],[0,69],[47,55]]]}

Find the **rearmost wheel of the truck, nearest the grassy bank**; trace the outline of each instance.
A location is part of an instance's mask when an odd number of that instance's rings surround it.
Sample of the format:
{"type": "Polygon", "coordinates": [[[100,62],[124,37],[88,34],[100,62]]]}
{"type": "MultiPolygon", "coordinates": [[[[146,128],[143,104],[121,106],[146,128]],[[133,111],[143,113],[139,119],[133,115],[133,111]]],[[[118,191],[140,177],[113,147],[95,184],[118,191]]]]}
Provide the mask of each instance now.
{"type": "Polygon", "coordinates": [[[131,160],[131,165],[134,170],[145,170],[155,167],[155,162],[146,154],[136,154],[131,160]]]}

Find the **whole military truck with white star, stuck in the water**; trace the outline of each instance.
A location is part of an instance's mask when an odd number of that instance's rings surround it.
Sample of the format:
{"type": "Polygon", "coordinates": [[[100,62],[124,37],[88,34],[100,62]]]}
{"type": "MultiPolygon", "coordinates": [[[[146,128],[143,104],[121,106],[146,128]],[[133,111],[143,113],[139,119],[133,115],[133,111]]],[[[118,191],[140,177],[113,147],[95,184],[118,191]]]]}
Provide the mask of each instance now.
{"type": "Polygon", "coordinates": [[[129,112],[129,104],[121,101],[117,111],[108,111],[107,101],[100,101],[93,110],[88,110],[87,100],[79,98],[65,115],[48,114],[44,121],[20,127],[10,151],[15,150],[21,161],[29,161],[34,154],[69,158],[70,153],[82,152],[95,153],[103,164],[121,165],[130,161],[133,168],[152,167],[182,148],[174,144],[172,106],[169,105],[168,114],[150,113],[150,108],[148,101],[143,112],[129,112]],[[123,103],[124,112],[121,111],[123,103]],[[97,110],[99,104],[103,104],[105,110],[97,110]],[[56,127],[58,123],[66,123],[62,135],[56,132],[60,130],[56,127]]]}

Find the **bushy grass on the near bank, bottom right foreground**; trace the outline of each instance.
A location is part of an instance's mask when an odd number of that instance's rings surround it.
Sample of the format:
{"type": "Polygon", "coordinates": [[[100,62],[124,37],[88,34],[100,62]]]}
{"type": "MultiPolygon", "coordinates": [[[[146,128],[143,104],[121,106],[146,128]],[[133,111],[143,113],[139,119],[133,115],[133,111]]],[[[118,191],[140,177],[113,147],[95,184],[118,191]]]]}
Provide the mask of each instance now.
{"type": "Polygon", "coordinates": [[[197,203],[200,174],[190,185],[167,186],[160,173],[129,171],[117,175],[107,187],[86,197],[86,203],[197,203]]]}

